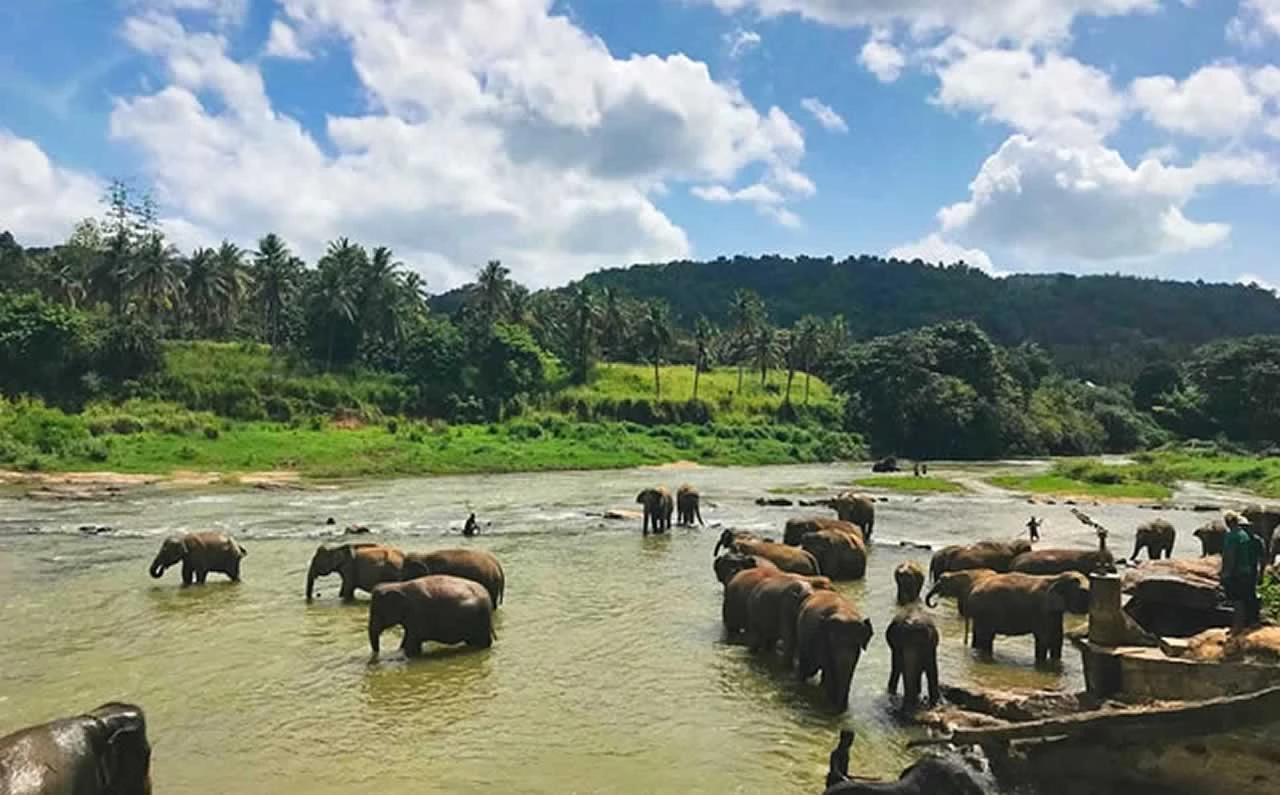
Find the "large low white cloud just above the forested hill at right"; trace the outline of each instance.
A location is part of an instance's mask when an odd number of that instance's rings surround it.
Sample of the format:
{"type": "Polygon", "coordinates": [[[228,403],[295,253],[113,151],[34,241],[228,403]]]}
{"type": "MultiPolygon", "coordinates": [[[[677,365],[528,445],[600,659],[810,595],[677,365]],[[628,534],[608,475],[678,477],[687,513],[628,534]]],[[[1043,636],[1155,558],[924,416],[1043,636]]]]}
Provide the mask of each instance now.
{"type": "Polygon", "coordinates": [[[1188,166],[1130,168],[1101,143],[1076,147],[1010,137],[983,163],[968,201],[938,213],[943,232],[1015,251],[1076,260],[1126,260],[1204,248],[1230,227],[1183,209],[1215,184],[1274,182],[1261,156],[1207,155],[1188,166]]]}

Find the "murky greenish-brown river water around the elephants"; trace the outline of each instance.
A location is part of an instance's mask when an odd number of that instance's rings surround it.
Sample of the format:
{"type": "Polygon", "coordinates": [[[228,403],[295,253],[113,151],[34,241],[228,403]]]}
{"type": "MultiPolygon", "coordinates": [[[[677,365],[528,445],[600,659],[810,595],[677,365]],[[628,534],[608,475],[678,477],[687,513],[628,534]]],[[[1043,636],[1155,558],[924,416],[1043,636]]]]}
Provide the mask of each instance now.
{"type": "MultiPolygon", "coordinates": [[[[891,571],[927,552],[899,548],[1009,538],[1030,506],[1010,495],[890,495],[878,507],[865,582],[845,586],[877,638],[832,717],[800,687],[721,638],[712,529],[641,538],[639,522],[589,516],[634,508],[640,486],[699,485],[708,522],[781,534],[803,508],[760,508],[768,489],[831,493],[864,467],[691,472],[635,470],[468,476],[317,492],[141,493],[110,503],[0,501],[0,734],[111,699],[150,718],[156,791],[815,792],[838,728],[858,730],[851,768],[895,775],[911,755],[887,717],[891,571]],[[468,510],[492,522],[458,527],[468,510]],[[364,522],[406,549],[485,548],[507,570],[498,641],[433,648],[406,662],[394,636],[369,664],[364,604],[337,577],[303,585],[315,545],[364,522]],[[84,536],[79,525],[109,525],[84,536]],[[151,580],[159,536],[221,529],[248,548],[244,581],[179,589],[151,580]]],[[[941,472],[941,467],[934,467],[941,472]]],[[[974,472],[974,478],[979,474],[974,472]]],[[[1152,512],[1088,511],[1125,531],[1152,512]]],[[[1092,545],[1062,506],[1036,506],[1046,544],[1092,545]]],[[[1170,513],[1193,552],[1194,513],[1170,513]]],[[[1114,539],[1116,545],[1129,542],[1114,539]]],[[[1001,639],[995,663],[963,648],[954,607],[936,611],[943,681],[1078,687],[1079,658],[1032,670],[1030,639],[1001,639]]]]}

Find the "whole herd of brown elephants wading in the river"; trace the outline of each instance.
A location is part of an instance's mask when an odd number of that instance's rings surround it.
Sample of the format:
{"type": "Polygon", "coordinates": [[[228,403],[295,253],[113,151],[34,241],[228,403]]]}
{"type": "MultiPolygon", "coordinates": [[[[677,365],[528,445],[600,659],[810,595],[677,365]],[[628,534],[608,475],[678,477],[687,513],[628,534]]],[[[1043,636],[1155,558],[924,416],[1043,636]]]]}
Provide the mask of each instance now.
{"type": "MultiPolygon", "coordinates": [[[[680,524],[703,524],[699,494],[687,485],[675,498],[663,486],[645,489],[636,502],[644,506],[644,534],[650,527],[666,533],[676,508],[680,524]]],[[[722,617],[728,635],[745,636],[754,653],[781,654],[788,667],[796,666],[801,680],[820,673],[826,703],[842,712],[873,627],[832,582],[865,576],[876,507],[869,498],[847,492],[826,504],[838,518],[791,518],[782,543],[724,530],[712,554],[713,570],[724,588],[722,617]]],[[[1280,524],[1280,512],[1268,511],[1258,518],[1270,531],[1280,524]]],[[[1221,552],[1225,527],[1220,525],[1211,522],[1196,531],[1203,554],[1221,552]]],[[[1172,542],[1169,522],[1147,522],[1138,529],[1134,558],[1142,548],[1152,558],[1169,557],[1172,542]]],[[[204,584],[210,572],[239,581],[246,554],[223,533],[174,535],[160,544],[148,571],[161,577],[180,563],[183,585],[204,584]]],[[[1033,550],[1027,540],[952,545],[933,553],[932,588],[922,603],[923,568],[914,561],[901,563],[893,571],[897,611],[884,632],[891,653],[890,693],[896,694],[901,682],[901,707],[914,709],[927,680],[928,702],[940,698],[938,630],[925,609],[933,607],[936,597],[956,600],[966,635],[972,625],[975,649],[989,653],[996,635],[1033,635],[1039,663],[1061,658],[1064,613],[1088,611],[1087,575],[1096,571],[1115,571],[1105,535],[1100,535],[1098,549],[1083,550],[1033,550]]],[[[369,645],[374,659],[381,634],[392,626],[402,627],[401,648],[407,657],[421,654],[429,640],[488,648],[495,639],[493,612],[502,604],[506,575],[488,552],[406,553],[378,543],[321,544],[307,568],[307,602],[312,600],[316,579],[332,574],[342,577],[342,600],[355,600],[357,590],[370,594],[369,645]]],[[[899,792],[924,781],[937,785],[929,791],[970,791],[972,775],[964,766],[934,757],[908,768],[893,783],[849,780],[851,743],[852,734],[841,732],[832,753],[828,794],[899,792]]],[[[108,703],[0,737],[0,795],[150,795],[150,759],[142,708],[108,703]]]]}

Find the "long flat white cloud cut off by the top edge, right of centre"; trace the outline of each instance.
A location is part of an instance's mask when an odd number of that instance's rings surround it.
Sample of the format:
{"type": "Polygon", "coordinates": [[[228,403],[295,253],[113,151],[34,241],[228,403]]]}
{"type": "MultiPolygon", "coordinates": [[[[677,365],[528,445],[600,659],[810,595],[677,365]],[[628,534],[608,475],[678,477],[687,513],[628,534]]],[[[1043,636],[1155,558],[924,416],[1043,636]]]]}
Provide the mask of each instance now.
{"type": "MultiPolygon", "coordinates": [[[[707,0],[722,12],[797,14],[841,27],[905,26],[918,37],[955,31],[983,44],[1061,41],[1076,17],[1156,12],[1160,0],[707,0]]],[[[1257,0],[1254,0],[1257,1],[1257,0]]],[[[1274,1],[1274,0],[1268,0],[1274,1]]]]}

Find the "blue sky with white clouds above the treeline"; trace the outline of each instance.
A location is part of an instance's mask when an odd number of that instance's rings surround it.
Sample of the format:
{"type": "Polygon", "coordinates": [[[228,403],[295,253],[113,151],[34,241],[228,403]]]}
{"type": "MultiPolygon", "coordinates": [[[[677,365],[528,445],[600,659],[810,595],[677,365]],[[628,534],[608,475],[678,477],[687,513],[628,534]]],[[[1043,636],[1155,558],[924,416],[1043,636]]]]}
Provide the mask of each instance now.
{"type": "Polygon", "coordinates": [[[0,228],[1280,284],[1280,0],[3,0],[0,228]]]}

